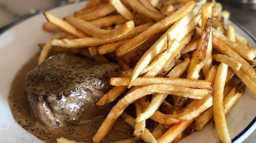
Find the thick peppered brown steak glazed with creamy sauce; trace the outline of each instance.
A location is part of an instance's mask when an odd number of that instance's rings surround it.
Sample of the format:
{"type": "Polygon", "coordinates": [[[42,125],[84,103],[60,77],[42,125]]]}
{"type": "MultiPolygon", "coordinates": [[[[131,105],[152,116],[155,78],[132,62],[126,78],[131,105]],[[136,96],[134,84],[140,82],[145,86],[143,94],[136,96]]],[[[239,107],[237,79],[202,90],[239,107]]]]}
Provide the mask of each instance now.
{"type": "Polygon", "coordinates": [[[26,77],[28,99],[37,119],[49,127],[71,125],[108,113],[110,105],[95,102],[109,90],[103,75],[118,71],[115,63],[58,54],[49,57],[26,77]]]}

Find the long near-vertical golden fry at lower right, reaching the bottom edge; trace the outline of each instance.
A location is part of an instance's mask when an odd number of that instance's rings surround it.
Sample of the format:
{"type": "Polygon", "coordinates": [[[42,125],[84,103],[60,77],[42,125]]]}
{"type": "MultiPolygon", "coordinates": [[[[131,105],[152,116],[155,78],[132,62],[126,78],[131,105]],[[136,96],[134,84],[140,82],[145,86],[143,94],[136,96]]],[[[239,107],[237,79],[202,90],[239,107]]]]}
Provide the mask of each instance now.
{"type": "Polygon", "coordinates": [[[218,138],[223,143],[231,143],[223,106],[223,91],[227,76],[227,68],[228,66],[224,63],[219,65],[213,87],[213,117],[216,124],[218,138]]]}

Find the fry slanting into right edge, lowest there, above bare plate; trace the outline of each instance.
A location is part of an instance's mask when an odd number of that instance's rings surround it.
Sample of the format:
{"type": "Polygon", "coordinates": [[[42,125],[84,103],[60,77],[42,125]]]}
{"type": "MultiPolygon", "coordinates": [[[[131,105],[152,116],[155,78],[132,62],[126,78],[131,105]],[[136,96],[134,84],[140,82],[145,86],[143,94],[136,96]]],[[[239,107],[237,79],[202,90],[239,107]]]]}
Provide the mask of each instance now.
{"type": "Polygon", "coordinates": [[[256,85],[255,83],[243,72],[242,70],[236,71],[235,69],[232,69],[234,73],[239,77],[240,80],[242,80],[243,83],[252,91],[252,93],[256,97],[256,85]]]}

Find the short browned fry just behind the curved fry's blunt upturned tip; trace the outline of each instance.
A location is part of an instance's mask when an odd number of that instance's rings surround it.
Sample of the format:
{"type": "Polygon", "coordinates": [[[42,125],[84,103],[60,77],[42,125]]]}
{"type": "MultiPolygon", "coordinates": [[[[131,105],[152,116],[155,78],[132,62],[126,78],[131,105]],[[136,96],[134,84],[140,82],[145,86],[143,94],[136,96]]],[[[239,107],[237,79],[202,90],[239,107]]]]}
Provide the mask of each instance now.
{"type": "Polygon", "coordinates": [[[99,19],[96,19],[94,21],[91,21],[90,23],[101,28],[104,26],[111,26],[113,24],[124,24],[128,20],[123,18],[121,15],[109,15],[105,16],[99,19]]]}

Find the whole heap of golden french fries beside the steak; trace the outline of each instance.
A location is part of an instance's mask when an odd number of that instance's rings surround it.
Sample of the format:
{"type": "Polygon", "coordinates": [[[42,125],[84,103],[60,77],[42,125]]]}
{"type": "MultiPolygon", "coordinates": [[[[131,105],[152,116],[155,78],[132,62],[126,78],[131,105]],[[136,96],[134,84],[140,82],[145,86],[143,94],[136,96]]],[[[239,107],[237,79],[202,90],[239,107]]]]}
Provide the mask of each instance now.
{"type": "MultiPolygon", "coordinates": [[[[117,118],[134,128],[133,138],[118,141],[178,142],[214,119],[219,140],[231,143],[225,116],[253,82],[255,51],[224,26],[228,11],[206,0],[91,0],[73,16],[59,19],[44,12],[43,28],[59,32],[39,44],[38,63],[50,51],[80,53],[97,62],[117,61],[122,71],[106,74],[113,85],[96,106],[121,98],[93,136],[102,142],[117,118]],[[241,80],[235,83],[234,74],[241,80]],[[148,96],[150,95],[150,96],[148,96]],[[152,95],[152,96],[151,96],[152,95]],[[132,104],[136,118],[125,113],[132,104]],[[150,131],[145,121],[154,120],[150,131]]],[[[59,143],[75,143],[58,138],[59,143]]]]}

